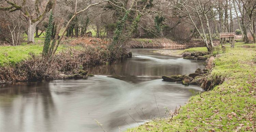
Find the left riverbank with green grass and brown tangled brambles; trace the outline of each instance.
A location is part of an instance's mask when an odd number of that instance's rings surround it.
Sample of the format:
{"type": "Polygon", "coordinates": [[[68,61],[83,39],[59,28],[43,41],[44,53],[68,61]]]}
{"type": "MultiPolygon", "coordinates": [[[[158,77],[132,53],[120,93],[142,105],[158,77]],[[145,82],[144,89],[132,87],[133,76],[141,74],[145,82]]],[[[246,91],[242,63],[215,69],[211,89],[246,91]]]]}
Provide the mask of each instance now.
{"type": "Polygon", "coordinates": [[[87,74],[87,71],[82,73],[74,70],[131,57],[126,48],[118,48],[113,52],[108,49],[109,43],[98,38],[91,38],[89,42],[86,39],[87,43],[80,39],[74,41],[62,44],[51,62],[42,60],[43,44],[0,46],[0,83],[86,79],[93,75],[87,74]]]}

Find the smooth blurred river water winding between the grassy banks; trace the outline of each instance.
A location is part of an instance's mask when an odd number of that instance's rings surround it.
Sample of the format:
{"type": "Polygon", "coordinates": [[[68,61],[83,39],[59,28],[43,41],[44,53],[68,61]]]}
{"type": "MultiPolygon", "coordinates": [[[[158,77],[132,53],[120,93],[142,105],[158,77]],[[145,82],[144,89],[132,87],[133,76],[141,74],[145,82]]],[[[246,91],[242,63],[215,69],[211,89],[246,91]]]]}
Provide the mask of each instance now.
{"type": "Polygon", "coordinates": [[[96,75],[87,80],[1,86],[0,131],[119,131],[167,116],[166,108],[184,105],[201,88],[165,82],[161,76],[204,66],[152,50],[132,49],[132,58],[85,68],[96,75]]]}

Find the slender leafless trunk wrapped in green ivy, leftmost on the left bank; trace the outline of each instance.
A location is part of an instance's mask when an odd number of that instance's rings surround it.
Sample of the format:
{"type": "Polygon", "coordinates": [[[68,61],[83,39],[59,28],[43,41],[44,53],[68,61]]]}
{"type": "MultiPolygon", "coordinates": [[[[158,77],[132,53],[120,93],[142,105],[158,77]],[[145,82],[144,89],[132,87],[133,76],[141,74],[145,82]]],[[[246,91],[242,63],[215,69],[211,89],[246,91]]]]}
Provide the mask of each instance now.
{"type": "Polygon", "coordinates": [[[48,22],[48,27],[46,29],[46,34],[45,34],[45,40],[44,40],[44,47],[43,47],[43,56],[47,56],[49,47],[51,44],[51,38],[52,38],[52,29],[53,29],[53,12],[51,11],[50,17],[49,17],[49,22],[48,22]]]}

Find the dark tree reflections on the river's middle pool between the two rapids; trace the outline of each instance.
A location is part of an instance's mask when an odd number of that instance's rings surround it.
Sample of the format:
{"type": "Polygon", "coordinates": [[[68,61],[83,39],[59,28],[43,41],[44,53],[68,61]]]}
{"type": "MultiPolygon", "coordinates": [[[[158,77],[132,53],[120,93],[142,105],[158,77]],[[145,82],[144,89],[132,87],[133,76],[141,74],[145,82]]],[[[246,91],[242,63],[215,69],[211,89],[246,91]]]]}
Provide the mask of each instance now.
{"type": "Polygon", "coordinates": [[[167,74],[189,74],[197,68],[202,68],[202,64],[196,61],[190,62],[190,60],[184,60],[184,62],[181,61],[174,64],[158,64],[154,61],[131,58],[122,63],[100,65],[85,69],[95,75],[161,77],[167,74]]]}

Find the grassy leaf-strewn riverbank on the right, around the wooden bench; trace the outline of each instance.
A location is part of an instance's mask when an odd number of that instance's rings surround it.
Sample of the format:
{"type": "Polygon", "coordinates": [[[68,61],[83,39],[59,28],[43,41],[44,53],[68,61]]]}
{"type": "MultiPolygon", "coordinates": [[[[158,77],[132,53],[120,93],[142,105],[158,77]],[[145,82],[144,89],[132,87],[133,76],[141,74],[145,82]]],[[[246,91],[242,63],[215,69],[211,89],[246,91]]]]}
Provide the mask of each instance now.
{"type": "Polygon", "coordinates": [[[235,48],[213,56],[213,67],[205,81],[221,78],[222,84],[212,84],[211,90],[191,97],[167,119],[156,119],[127,131],[255,131],[255,44],[237,43],[235,48]]]}

